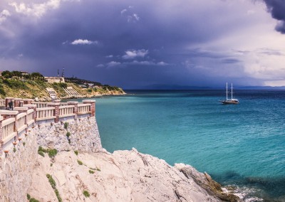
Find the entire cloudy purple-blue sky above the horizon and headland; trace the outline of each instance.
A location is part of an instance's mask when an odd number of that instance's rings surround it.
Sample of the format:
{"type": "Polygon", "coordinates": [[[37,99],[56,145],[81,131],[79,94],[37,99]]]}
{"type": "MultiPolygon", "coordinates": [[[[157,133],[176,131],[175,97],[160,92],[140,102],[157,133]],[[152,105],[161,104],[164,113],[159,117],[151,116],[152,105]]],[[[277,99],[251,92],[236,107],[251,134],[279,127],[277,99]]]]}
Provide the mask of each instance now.
{"type": "Polygon", "coordinates": [[[0,70],[157,85],[285,85],[284,0],[0,0],[0,70]]]}

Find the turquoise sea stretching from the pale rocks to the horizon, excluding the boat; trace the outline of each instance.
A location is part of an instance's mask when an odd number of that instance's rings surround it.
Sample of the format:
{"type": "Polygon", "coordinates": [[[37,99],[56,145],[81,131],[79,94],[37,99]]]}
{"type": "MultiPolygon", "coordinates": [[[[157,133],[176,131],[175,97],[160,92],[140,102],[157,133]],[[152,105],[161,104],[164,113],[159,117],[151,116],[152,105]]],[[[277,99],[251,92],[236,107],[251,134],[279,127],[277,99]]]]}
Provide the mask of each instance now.
{"type": "Polygon", "coordinates": [[[285,201],[285,91],[130,91],[96,99],[103,147],[206,171],[244,201],[285,201]]]}

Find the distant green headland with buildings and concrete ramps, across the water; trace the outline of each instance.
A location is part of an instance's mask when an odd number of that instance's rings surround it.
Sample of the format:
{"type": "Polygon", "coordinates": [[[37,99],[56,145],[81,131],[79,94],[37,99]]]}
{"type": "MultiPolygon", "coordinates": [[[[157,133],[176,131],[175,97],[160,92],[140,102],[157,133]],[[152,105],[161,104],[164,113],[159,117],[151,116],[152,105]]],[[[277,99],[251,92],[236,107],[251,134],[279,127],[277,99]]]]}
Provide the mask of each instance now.
{"type": "Polygon", "coordinates": [[[65,78],[64,75],[46,77],[41,73],[23,71],[0,71],[0,97],[20,97],[51,101],[102,95],[124,95],[122,88],[83,80],[65,78]]]}

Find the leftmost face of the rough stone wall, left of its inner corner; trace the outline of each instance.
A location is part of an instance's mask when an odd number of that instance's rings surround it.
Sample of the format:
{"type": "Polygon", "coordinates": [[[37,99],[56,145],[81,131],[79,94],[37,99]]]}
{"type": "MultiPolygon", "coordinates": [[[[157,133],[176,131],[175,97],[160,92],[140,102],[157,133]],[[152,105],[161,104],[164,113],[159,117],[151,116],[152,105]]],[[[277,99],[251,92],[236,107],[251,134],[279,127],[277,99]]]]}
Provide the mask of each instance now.
{"type": "Polygon", "coordinates": [[[0,201],[26,201],[33,166],[38,156],[36,135],[27,132],[21,141],[0,158],[0,201]]]}

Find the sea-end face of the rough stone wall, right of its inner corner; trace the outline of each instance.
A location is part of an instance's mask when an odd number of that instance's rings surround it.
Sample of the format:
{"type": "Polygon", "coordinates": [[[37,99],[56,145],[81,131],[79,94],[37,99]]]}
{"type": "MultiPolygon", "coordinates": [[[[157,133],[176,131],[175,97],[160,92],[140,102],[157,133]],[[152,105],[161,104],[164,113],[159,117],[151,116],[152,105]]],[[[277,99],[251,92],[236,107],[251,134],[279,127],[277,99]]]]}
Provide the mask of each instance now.
{"type": "Polygon", "coordinates": [[[95,117],[67,119],[58,123],[38,124],[34,131],[38,145],[57,151],[101,151],[102,145],[95,117]],[[68,127],[65,128],[65,123],[68,127]],[[70,133],[68,137],[66,134],[70,133]],[[69,140],[69,142],[68,142],[69,140]]]}

